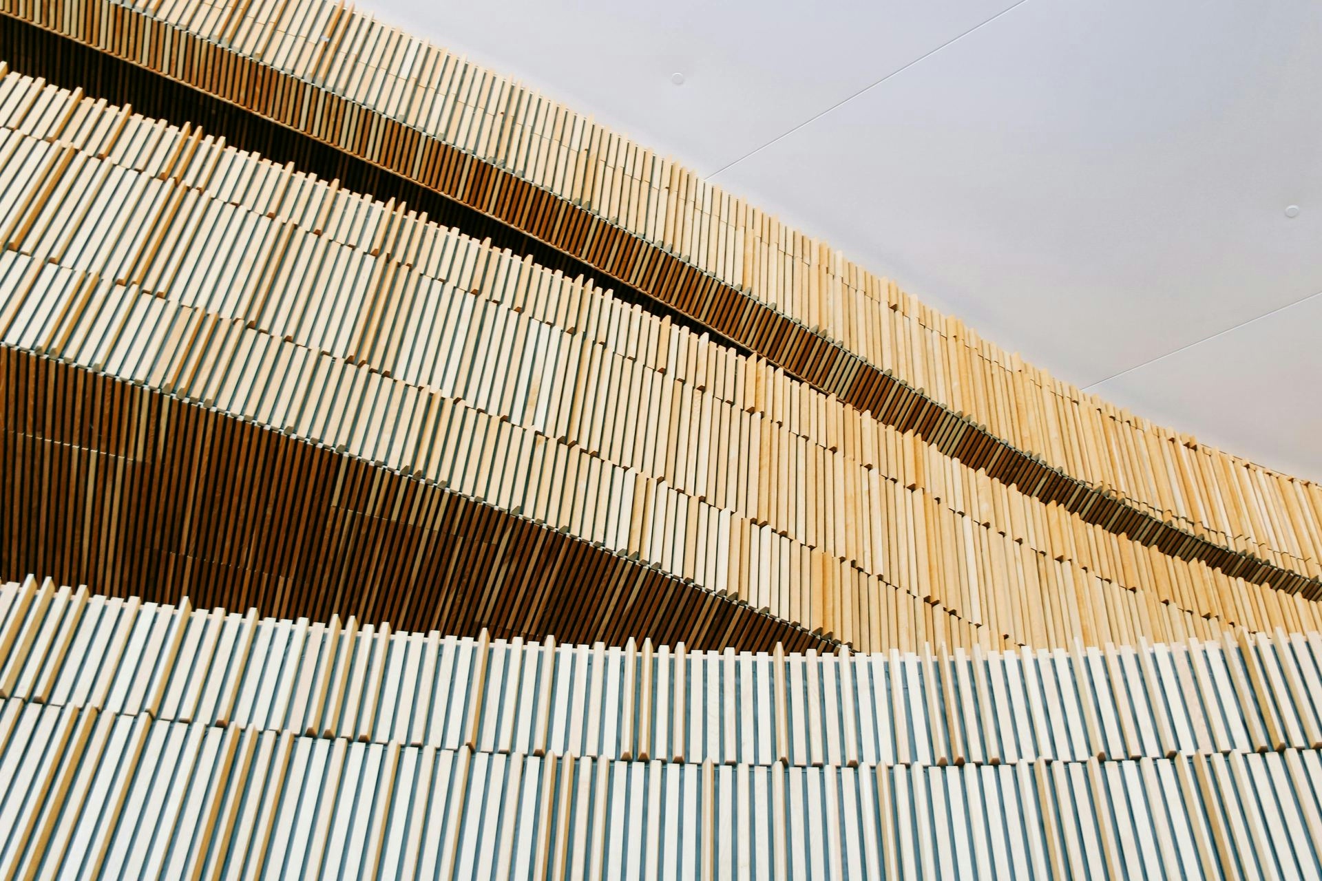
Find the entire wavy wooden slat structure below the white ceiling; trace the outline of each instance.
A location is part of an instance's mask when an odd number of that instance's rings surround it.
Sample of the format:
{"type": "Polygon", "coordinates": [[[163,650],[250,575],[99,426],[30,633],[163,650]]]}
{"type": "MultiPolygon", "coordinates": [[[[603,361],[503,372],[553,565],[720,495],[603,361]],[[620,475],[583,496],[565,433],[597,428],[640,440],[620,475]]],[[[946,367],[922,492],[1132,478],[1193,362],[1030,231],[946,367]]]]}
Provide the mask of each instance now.
{"type": "Polygon", "coordinates": [[[0,0],[4,877],[1322,877],[1319,559],[342,5],[0,0]]]}

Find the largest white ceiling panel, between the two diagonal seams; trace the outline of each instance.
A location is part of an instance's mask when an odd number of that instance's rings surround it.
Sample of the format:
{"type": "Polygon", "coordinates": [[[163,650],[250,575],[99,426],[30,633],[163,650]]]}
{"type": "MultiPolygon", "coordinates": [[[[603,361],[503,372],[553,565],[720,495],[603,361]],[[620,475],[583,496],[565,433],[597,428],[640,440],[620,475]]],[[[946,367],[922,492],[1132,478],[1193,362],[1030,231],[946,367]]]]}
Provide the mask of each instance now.
{"type": "Polygon", "coordinates": [[[1029,0],[717,181],[1084,386],[1322,287],[1319,20],[1029,0]]]}

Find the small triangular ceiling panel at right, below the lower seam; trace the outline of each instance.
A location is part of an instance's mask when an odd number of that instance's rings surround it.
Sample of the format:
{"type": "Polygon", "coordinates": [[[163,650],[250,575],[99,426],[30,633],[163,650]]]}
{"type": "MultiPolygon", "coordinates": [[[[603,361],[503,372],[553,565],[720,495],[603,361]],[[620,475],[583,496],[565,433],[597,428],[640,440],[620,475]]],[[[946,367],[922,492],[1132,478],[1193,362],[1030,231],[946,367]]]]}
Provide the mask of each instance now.
{"type": "Polygon", "coordinates": [[[1322,481],[1322,293],[1088,391],[1203,425],[1199,440],[1322,481]]]}

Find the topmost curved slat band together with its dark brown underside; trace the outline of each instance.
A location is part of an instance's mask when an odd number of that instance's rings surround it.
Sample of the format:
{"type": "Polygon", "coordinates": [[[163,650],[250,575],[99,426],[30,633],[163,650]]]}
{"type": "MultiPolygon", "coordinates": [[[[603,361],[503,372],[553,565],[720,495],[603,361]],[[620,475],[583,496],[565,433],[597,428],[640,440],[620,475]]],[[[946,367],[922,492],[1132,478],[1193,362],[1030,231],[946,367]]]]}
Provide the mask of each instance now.
{"type": "MultiPolygon", "coordinates": [[[[202,15],[193,4],[172,4],[168,11],[153,7],[151,13],[108,3],[79,7],[79,15],[71,9],[16,3],[9,11],[253,107],[506,221],[533,223],[530,218],[545,211],[563,218],[564,206],[570,213],[584,206],[591,219],[564,226],[579,242],[562,242],[567,250],[592,252],[594,265],[678,304],[820,387],[859,405],[887,409],[883,399],[894,396],[883,388],[888,379],[880,386],[863,383],[865,391],[858,379],[863,362],[842,367],[854,357],[850,353],[862,353],[869,363],[894,369],[927,388],[945,408],[944,416],[933,416],[948,421],[948,428],[920,425],[928,419],[914,424],[937,444],[954,444],[952,429],[977,436],[966,423],[948,419],[953,412],[970,412],[990,424],[995,436],[1044,456],[1071,476],[1105,483],[1223,548],[1248,551],[1305,579],[1318,575],[1322,494],[1314,485],[1199,448],[1083,398],[682,169],[463,59],[321,3],[209,8],[214,15],[202,15]],[[130,21],[136,25],[128,26],[130,21]],[[217,78],[214,65],[222,55],[229,61],[219,69],[227,73],[217,78]],[[249,87],[260,71],[274,87],[249,87]],[[362,73],[371,75],[362,78],[362,73]],[[549,198],[527,202],[512,195],[527,181],[546,188],[537,193],[549,198]],[[510,206],[517,206],[513,217],[505,217],[510,206]],[[642,238],[631,238],[628,230],[642,238]],[[613,231],[625,234],[624,239],[616,242],[613,231]],[[687,284],[689,276],[662,272],[660,267],[672,259],[723,281],[715,288],[703,283],[677,300],[676,285],[687,284]],[[657,284],[676,292],[653,289],[657,284]],[[746,339],[776,321],[754,320],[747,308],[731,310],[719,297],[713,300],[718,288],[720,297],[743,296],[743,291],[752,302],[773,306],[772,314],[788,316],[788,335],[776,332],[765,339],[746,339]],[[843,347],[804,345],[804,333],[843,347]],[[887,353],[895,361],[887,361],[887,353]]],[[[559,235],[561,222],[542,223],[534,232],[559,235]]],[[[1092,499],[1093,509],[1107,509],[1107,520],[1124,520],[1126,531],[1161,534],[1167,543],[1183,540],[1178,531],[1158,528],[1159,520],[1136,519],[1133,511],[1107,498],[1080,497],[1079,485],[1060,482],[1051,472],[1038,469],[1039,476],[1031,458],[1018,453],[1006,458],[1018,462],[1006,476],[1032,494],[1072,510],[1092,499]]],[[[1236,573],[1273,577],[1260,572],[1256,560],[1210,548],[1199,552],[1216,556],[1215,564],[1223,568],[1239,567],[1236,573]]],[[[1307,588],[1317,590],[1315,582],[1307,588]]]]}

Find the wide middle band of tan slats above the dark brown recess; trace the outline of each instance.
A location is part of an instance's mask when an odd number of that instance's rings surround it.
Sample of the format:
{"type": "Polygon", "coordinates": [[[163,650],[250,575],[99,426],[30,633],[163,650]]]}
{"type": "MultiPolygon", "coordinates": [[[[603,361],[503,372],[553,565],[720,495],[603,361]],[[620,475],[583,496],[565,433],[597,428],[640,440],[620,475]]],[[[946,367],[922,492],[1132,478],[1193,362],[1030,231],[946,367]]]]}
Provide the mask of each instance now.
{"type": "Polygon", "coordinates": [[[0,155],[5,345],[483,495],[865,650],[945,641],[896,631],[904,597],[989,647],[1319,627],[1313,602],[1114,536],[608,292],[188,127],[9,74],[0,155]],[[465,458],[426,444],[431,425],[492,440],[465,458]],[[525,479],[538,453],[555,458],[525,479]]]}

